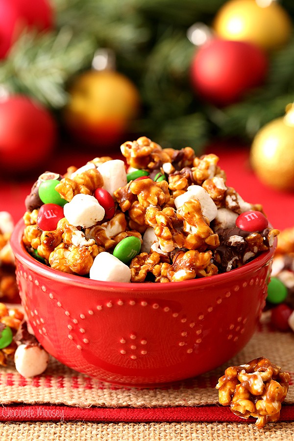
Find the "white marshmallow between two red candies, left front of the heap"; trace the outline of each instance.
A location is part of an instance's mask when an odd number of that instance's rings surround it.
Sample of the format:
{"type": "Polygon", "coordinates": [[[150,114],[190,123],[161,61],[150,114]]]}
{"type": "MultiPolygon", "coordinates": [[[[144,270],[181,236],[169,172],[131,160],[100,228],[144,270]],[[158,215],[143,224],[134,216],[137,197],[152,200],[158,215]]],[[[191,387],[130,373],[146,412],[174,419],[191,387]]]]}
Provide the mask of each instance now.
{"type": "Polygon", "coordinates": [[[98,221],[102,221],[105,215],[104,208],[94,196],[73,196],[73,199],[63,207],[65,218],[74,226],[89,228],[98,221]]]}

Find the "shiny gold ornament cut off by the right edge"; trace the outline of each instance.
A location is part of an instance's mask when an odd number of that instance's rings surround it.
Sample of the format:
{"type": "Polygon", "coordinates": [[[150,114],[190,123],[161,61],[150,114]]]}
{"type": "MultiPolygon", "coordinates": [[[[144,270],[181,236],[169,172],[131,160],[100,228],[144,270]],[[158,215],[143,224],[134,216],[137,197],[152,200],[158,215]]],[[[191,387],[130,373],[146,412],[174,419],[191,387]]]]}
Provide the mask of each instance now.
{"type": "Polygon", "coordinates": [[[294,104],[255,136],[250,162],[258,178],[276,190],[294,191],[294,104]]]}

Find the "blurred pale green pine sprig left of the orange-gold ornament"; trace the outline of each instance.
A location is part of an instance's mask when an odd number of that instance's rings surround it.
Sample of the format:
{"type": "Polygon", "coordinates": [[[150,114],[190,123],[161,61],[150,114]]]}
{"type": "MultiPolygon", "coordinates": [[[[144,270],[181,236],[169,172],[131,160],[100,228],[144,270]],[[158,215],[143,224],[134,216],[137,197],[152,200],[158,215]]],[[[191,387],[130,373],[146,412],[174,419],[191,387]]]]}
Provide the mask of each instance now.
{"type": "Polygon", "coordinates": [[[0,63],[0,84],[60,108],[67,102],[68,78],[91,63],[94,50],[88,35],[75,37],[66,26],[41,36],[25,33],[0,63]]]}

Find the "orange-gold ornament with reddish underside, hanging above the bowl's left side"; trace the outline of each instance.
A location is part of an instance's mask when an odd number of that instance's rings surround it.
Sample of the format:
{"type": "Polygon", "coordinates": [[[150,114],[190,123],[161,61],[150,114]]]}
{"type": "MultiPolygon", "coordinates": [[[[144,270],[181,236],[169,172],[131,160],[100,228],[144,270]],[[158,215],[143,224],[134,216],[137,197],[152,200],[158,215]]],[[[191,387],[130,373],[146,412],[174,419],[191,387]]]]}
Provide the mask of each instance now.
{"type": "Polygon", "coordinates": [[[112,70],[91,70],[77,76],[63,118],[69,131],[93,145],[118,142],[139,112],[135,85],[112,70]]]}

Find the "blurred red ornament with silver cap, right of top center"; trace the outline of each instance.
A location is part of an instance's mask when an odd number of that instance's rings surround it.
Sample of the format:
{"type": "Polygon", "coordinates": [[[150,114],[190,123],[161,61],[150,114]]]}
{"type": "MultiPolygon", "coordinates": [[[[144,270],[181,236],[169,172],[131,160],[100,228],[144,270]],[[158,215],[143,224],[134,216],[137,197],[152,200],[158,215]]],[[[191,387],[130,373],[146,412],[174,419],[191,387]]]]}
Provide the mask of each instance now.
{"type": "Polygon", "coordinates": [[[223,106],[260,86],[267,68],[266,54],[251,43],[212,39],[196,51],[191,80],[200,97],[223,106]]]}

